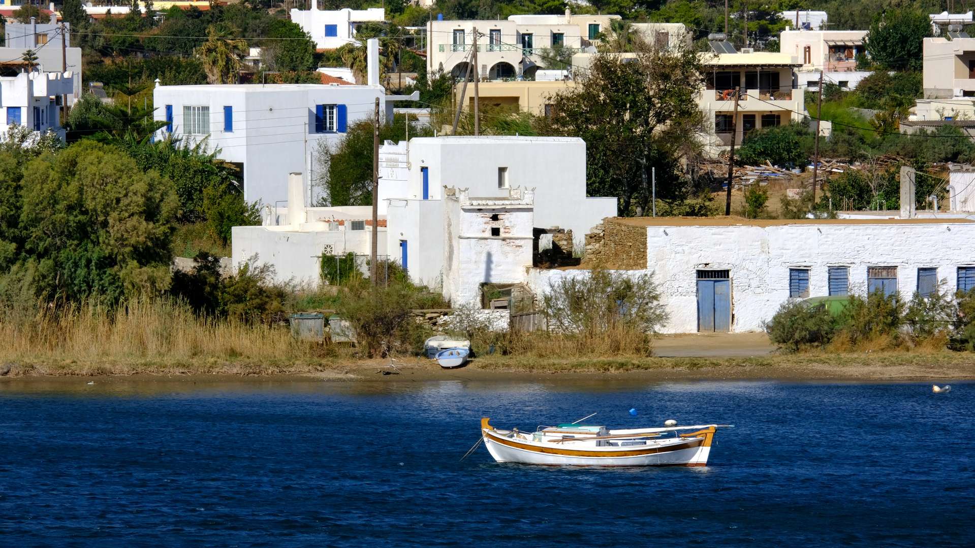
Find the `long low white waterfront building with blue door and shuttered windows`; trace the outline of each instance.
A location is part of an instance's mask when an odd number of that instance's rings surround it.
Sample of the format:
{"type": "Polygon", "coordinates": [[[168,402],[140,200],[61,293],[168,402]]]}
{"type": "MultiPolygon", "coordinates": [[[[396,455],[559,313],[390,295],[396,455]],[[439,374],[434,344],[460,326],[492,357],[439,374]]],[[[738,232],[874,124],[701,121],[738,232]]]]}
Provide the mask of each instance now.
{"type": "MultiPolygon", "coordinates": [[[[762,331],[789,299],[876,289],[908,300],[943,281],[975,286],[969,219],[756,221],[673,217],[607,219],[607,240],[627,241],[633,274],[653,273],[670,315],[666,333],[762,331]]],[[[538,295],[551,280],[580,270],[532,270],[538,295]]]]}

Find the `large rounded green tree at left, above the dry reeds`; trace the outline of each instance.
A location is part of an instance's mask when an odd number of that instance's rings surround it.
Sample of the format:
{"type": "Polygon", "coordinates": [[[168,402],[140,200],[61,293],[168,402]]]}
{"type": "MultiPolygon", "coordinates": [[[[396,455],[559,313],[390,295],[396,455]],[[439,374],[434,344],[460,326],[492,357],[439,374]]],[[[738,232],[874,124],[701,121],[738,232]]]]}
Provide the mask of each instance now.
{"type": "Polygon", "coordinates": [[[35,269],[39,294],[115,300],[168,286],[178,211],[169,179],[93,141],[23,172],[20,262],[35,269]]]}

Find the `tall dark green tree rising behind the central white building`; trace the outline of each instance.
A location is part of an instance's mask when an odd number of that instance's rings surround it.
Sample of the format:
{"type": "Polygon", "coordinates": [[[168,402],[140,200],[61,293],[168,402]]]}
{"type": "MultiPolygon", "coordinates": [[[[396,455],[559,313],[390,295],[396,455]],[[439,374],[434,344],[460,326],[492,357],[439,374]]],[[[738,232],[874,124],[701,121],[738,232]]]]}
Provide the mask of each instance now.
{"type": "Polygon", "coordinates": [[[682,161],[704,132],[693,98],[703,85],[701,58],[689,49],[625,60],[597,55],[574,88],[549,98],[553,115],[539,120],[538,131],[584,139],[589,196],[618,197],[621,214],[642,216],[651,167],[658,199],[688,196],[682,161]]]}

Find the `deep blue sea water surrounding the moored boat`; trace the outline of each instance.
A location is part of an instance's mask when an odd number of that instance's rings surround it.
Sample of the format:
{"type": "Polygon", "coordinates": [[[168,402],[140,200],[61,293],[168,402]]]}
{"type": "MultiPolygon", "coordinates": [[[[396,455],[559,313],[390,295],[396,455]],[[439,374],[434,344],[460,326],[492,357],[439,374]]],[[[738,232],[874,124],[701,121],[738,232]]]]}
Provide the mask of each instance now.
{"type": "Polygon", "coordinates": [[[975,384],[0,383],[2,546],[972,546],[975,384]],[[639,416],[630,417],[636,408],[639,416]],[[497,464],[479,422],[722,429],[497,464]]]}

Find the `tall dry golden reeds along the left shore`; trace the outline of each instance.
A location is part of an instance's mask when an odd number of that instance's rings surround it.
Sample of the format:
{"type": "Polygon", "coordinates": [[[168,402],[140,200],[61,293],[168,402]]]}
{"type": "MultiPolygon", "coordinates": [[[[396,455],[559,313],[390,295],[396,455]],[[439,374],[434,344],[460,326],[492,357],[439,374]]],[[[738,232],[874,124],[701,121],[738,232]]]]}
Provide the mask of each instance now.
{"type": "Polygon", "coordinates": [[[295,342],[288,327],[200,317],[165,300],[44,307],[0,322],[0,339],[0,362],[42,374],[277,373],[317,370],[329,353],[295,342]]]}

